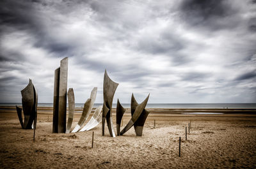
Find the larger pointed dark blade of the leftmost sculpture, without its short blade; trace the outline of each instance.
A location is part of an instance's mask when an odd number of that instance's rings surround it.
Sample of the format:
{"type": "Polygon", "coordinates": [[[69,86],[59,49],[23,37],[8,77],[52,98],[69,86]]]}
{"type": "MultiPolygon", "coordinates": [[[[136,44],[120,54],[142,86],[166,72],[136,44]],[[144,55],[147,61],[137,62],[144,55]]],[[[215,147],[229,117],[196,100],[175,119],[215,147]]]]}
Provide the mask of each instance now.
{"type": "Polygon", "coordinates": [[[33,114],[34,106],[34,89],[32,80],[29,79],[29,84],[20,91],[22,95],[22,108],[24,113],[24,129],[31,129],[32,123],[35,119],[35,114],[33,114]]]}

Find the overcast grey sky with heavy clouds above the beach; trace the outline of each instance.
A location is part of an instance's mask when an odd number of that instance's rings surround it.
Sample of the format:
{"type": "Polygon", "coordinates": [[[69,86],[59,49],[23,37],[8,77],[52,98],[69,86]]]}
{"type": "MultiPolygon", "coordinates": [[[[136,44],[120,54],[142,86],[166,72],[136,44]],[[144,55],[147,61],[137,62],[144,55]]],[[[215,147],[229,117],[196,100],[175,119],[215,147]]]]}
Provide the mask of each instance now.
{"type": "Polygon", "coordinates": [[[32,79],[52,103],[54,70],[84,103],[106,69],[113,103],[256,103],[256,1],[0,1],[0,102],[32,79]]]}

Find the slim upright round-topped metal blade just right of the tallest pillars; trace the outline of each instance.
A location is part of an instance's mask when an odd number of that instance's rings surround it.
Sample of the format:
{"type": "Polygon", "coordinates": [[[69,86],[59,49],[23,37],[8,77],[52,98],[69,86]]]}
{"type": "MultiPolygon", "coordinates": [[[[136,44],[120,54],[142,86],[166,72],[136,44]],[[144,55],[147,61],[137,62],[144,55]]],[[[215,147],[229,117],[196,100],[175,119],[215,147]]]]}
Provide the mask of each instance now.
{"type": "Polygon", "coordinates": [[[68,89],[68,124],[66,133],[70,133],[70,128],[72,126],[73,117],[74,117],[74,111],[75,111],[75,96],[73,88],[68,89]]]}

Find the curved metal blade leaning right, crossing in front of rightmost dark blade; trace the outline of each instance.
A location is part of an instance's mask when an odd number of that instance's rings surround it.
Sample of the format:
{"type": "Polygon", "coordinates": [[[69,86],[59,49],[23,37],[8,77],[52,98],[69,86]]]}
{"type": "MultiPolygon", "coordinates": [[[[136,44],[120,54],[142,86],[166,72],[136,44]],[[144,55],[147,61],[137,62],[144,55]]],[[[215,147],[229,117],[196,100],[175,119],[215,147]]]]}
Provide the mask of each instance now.
{"type": "Polygon", "coordinates": [[[141,113],[143,112],[144,108],[147,105],[148,98],[149,98],[149,94],[148,94],[147,98],[140,105],[138,105],[136,107],[131,120],[128,122],[128,124],[125,126],[125,128],[122,129],[122,131],[120,132],[120,135],[124,135],[124,133],[126,131],[128,131],[134,125],[134,123],[138,120],[138,118],[140,117],[141,113]]]}

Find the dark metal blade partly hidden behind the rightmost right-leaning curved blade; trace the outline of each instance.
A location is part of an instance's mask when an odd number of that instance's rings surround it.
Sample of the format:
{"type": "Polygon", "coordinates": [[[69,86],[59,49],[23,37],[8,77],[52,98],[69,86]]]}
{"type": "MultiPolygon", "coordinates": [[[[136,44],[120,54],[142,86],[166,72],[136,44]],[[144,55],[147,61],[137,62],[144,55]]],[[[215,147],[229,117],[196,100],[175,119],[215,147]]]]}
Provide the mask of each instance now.
{"type": "MultiPolygon", "coordinates": [[[[131,98],[131,114],[132,115],[134,114],[134,112],[136,110],[136,107],[138,105],[139,104],[137,103],[137,101],[134,98],[133,93],[132,93],[132,98],[131,98]]],[[[136,136],[142,136],[143,126],[145,124],[145,121],[146,121],[149,113],[150,112],[144,108],[144,110],[141,113],[141,115],[138,118],[138,120],[136,122],[134,122],[133,126],[134,126],[134,129],[135,129],[136,136]]]]}

